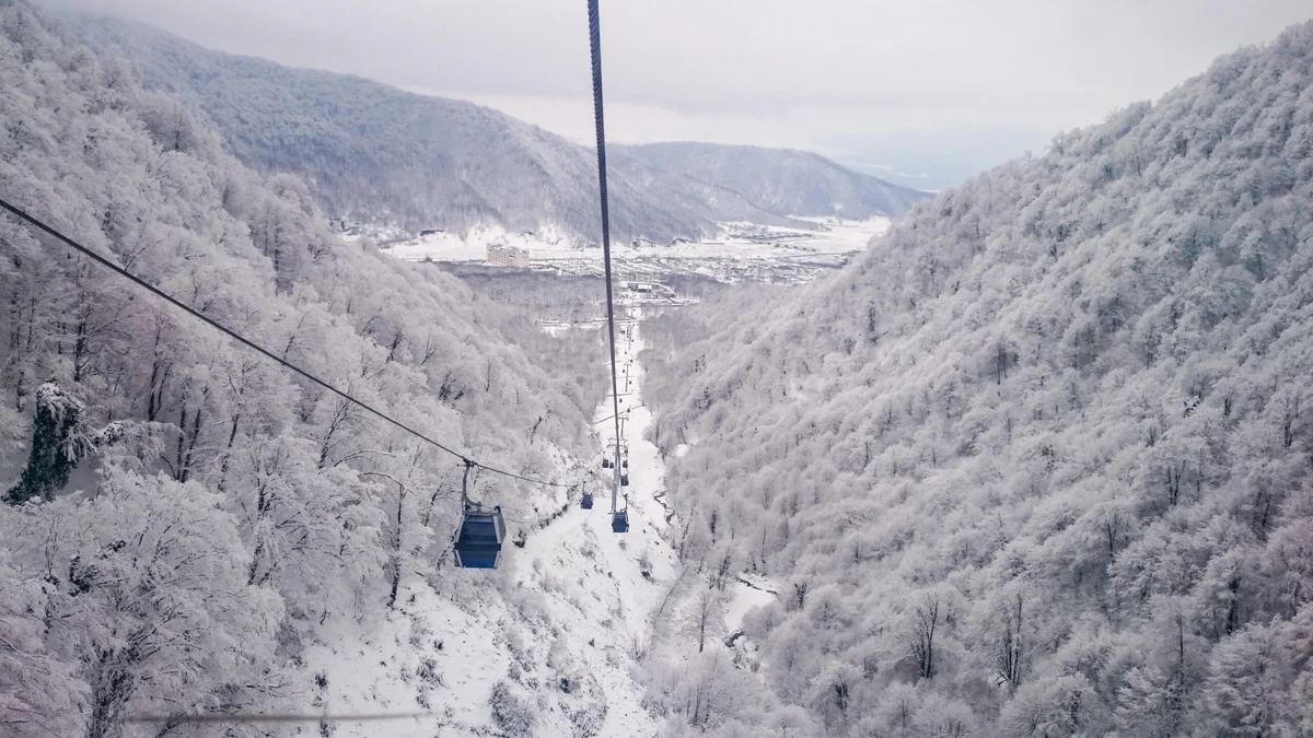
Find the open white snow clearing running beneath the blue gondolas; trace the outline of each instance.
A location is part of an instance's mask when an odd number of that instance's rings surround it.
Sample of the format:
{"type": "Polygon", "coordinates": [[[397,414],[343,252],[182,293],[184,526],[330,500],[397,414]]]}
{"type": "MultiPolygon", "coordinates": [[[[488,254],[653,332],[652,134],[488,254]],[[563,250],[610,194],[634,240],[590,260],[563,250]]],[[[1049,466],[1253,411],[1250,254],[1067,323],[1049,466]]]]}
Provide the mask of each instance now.
{"type": "MultiPolygon", "coordinates": [[[[490,704],[499,683],[512,706],[536,714],[525,735],[655,733],[634,657],[651,640],[650,615],[670,588],[676,557],[662,537],[667,524],[655,499],[662,461],[643,440],[651,416],[637,395],[642,343],[621,340],[618,348],[621,372],[635,382],[622,398],[630,486],[621,504],[628,499],[629,532],[612,532],[609,486],[595,483],[592,510],[578,507],[575,495],[523,549],[508,540],[500,570],[445,570],[441,592],[412,579],[385,620],[327,630],[302,654],[307,674],[323,675],[309,688],[309,704],[330,714],[418,713],[386,724],[340,721],[335,737],[503,734],[490,704]]],[[[611,415],[608,397],[597,420],[611,415]]],[[[612,424],[597,428],[609,441],[612,424]]],[[[730,628],[746,607],[735,597],[730,628]]]]}

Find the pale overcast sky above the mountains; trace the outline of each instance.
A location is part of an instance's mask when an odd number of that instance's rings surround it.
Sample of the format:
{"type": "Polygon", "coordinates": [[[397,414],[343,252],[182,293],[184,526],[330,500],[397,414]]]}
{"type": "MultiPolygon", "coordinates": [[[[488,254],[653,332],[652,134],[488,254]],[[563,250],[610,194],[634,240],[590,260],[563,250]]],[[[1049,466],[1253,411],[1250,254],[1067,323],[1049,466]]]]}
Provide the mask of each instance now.
{"type": "MultiPolygon", "coordinates": [[[[56,1],[591,141],[584,0],[56,1]]],[[[607,127],[937,188],[1310,17],[1313,0],[601,0],[607,127]]]]}

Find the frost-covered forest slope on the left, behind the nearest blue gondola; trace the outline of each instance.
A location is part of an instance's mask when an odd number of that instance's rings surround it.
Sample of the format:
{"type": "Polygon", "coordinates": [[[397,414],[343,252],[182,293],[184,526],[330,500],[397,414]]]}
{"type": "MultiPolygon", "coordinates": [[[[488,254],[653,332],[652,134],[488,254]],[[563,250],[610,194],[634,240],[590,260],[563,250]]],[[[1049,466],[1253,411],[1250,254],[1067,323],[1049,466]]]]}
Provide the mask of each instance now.
{"type": "MultiPolygon", "coordinates": [[[[337,240],[299,180],[243,168],[24,0],[0,1],[0,89],[5,200],[475,458],[550,479],[596,453],[596,332],[337,240]]],[[[408,580],[470,599],[446,563],[460,460],[8,215],[0,305],[0,734],[306,709],[323,629],[408,580]]],[[[475,488],[529,531],[565,494],[475,488]]]]}

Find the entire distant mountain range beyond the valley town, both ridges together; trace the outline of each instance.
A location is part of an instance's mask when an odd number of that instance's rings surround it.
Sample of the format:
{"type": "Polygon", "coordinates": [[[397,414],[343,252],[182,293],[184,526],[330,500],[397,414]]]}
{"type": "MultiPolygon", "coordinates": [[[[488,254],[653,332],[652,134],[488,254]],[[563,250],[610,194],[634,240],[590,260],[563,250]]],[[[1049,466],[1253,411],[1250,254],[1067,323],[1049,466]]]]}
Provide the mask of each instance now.
{"type": "MultiPolygon", "coordinates": [[[[592,150],[537,126],[465,101],[213,51],[142,24],[79,17],[71,25],[93,47],[119,47],[148,88],[186,100],[244,164],[305,177],[330,214],[412,230],[498,223],[596,239],[592,150]]],[[[680,148],[660,156],[671,150],[617,147],[614,238],[668,242],[708,235],[718,221],[805,226],[789,215],[834,214],[822,206],[831,202],[843,215],[899,215],[918,197],[814,155],[747,150],[751,168],[733,172],[734,162],[748,163],[739,148],[710,150],[725,152],[714,158],[725,171],[700,171],[680,148]],[[754,177],[762,181],[746,181],[754,177]]]]}

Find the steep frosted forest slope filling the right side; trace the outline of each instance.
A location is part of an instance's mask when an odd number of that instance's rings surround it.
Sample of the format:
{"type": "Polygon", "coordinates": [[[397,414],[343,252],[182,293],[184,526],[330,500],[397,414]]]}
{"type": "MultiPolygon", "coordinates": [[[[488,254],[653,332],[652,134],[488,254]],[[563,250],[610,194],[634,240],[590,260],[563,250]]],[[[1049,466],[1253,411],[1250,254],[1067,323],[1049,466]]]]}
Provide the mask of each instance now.
{"type": "Polygon", "coordinates": [[[1309,731],[1313,22],[645,326],[685,561],[829,735],[1309,731]],[[759,315],[743,324],[738,316],[759,315]]]}

